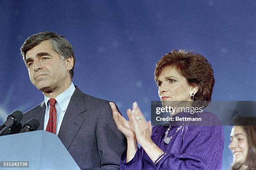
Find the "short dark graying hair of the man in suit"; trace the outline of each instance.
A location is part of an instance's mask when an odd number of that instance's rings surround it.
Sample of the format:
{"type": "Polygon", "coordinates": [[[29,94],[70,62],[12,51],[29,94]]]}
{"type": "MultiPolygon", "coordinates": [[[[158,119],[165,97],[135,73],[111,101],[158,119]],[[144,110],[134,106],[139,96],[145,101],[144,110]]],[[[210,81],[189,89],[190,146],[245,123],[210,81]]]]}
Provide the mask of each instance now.
{"type": "MultiPolygon", "coordinates": [[[[75,65],[76,59],[74,56],[74,49],[72,45],[65,37],[54,32],[39,32],[38,34],[34,34],[28,37],[28,39],[23,43],[20,48],[20,52],[23,56],[24,62],[26,61],[26,53],[45,40],[51,41],[52,49],[59,54],[62,60],[73,57],[75,65]]],[[[74,65],[73,68],[69,70],[71,78],[73,78],[74,76],[74,65]]]]}

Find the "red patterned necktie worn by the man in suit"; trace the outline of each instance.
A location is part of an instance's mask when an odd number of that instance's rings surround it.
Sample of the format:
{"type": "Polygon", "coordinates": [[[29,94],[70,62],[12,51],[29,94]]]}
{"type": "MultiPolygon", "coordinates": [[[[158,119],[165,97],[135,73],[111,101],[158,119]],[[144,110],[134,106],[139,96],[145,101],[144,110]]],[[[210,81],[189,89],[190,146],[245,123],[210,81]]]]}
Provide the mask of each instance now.
{"type": "Polygon", "coordinates": [[[50,115],[47,123],[46,131],[56,134],[56,123],[57,123],[57,111],[56,111],[56,100],[50,99],[50,115]]]}

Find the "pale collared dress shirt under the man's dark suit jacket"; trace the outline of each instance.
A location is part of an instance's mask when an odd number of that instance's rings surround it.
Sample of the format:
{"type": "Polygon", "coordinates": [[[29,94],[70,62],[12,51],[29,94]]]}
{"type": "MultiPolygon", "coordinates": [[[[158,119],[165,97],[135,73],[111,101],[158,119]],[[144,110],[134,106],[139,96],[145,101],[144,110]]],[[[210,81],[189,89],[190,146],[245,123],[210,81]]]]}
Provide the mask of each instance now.
{"type": "MultiPolygon", "coordinates": [[[[55,100],[57,101],[55,104],[56,111],[57,111],[56,135],[59,134],[61,122],[63,120],[67,107],[69,105],[70,98],[73,95],[75,90],[76,88],[74,87],[73,82],[71,82],[71,85],[69,86],[69,88],[67,88],[67,90],[65,90],[55,98],[55,100]]],[[[44,114],[44,130],[46,130],[47,123],[49,121],[49,115],[50,115],[50,103],[48,102],[48,100],[50,100],[50,98],[44,95],[44,103],[46,105],[45,114],[44,114]]]]}

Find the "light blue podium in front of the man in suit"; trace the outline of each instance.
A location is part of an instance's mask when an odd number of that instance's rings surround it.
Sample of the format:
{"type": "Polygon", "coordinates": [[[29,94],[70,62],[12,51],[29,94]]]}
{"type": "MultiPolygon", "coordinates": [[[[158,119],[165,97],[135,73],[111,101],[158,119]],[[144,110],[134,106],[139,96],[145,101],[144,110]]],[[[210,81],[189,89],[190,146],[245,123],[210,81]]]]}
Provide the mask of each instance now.
{"type": "Polygon", "coordinates": [[[80,170],[58,136],[44,130],[0,136],[0,163],[0,170],[80,170]]]}

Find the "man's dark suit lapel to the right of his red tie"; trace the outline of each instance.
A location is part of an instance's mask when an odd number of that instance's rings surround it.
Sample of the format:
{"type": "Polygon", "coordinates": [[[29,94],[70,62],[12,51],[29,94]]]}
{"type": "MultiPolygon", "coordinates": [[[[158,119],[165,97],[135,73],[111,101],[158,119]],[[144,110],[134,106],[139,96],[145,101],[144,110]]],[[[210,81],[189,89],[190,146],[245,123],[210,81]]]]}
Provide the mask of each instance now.
{"type": "Polygon", "coordinates": [[[84,122],[81,113],[86,111],[84,93],[78,87],[72,95],[59,130],[58,137],[64,146],[69,149],[80,126],[84,122]]]}

